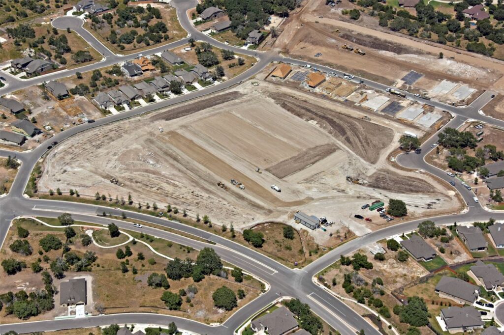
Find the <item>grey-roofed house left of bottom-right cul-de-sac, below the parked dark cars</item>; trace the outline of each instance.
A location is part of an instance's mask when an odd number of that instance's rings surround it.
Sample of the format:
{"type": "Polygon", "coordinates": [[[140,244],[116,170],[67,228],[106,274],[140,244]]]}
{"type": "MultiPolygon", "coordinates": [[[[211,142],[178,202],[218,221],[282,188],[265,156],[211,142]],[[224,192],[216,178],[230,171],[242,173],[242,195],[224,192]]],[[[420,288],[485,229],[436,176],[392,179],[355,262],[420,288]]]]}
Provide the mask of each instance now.
{"type": "Polygon", "coordinates": [[[441,310],[439,314],[445,322],[450,333],[472,331],[483,328],[485,322],[481,319],[481,314],[474,307],[448,307],[441,310]]]}

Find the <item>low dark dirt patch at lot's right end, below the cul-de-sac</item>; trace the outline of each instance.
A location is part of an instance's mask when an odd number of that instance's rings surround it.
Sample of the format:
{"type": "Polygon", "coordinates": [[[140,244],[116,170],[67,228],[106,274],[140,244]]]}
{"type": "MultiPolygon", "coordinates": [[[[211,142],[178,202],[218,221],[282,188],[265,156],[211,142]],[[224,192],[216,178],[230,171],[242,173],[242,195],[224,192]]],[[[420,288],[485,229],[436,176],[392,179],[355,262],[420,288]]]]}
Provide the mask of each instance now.
{"type": "Polygon", "coordinates": [[[379,170],[369,177],[369,186],[392,192],[432,193],[432,186],[418,178],[405,178],[390,171],[379,170]]]}

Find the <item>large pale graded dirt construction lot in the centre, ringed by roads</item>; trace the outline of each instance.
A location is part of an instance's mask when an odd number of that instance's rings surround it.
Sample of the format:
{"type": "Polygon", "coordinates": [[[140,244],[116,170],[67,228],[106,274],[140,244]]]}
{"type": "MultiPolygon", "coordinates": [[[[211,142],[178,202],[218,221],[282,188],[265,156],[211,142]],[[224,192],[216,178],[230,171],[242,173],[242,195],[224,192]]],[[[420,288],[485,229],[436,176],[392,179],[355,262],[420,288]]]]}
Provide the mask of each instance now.
{"type": "MultiPolygon", "coordinates": [[[[259,87],[246,82],[233,92],[70,138],[49,153],[39,190],[72,188],[81,196],[99,192],[119,198],[131,193],[136,203],[156,202],[159,208],[169,203],[192,217],[206,214],[237,228],[265,220],[290,222],[296,210],[346,221],[373,198],[403,199],[412,217],[458,208],[439,185],[411,197],[410,191],[401,193],[400,177],[393,191],[348,183],[348,175],[368,180],[377,170],[431,182],[395,170],[387,161],[400,134],[412,128],[380,117],[365,121],[350,106],[263,81],[259,87]],[[123,186],[111,184],[111,178],[123,186]],[[272,184],[282,192],[272,190],[272,184]]],[[[375,226],[348,221],[345,225],[357,234],[368,229],[359,227],[375,226]]]]}

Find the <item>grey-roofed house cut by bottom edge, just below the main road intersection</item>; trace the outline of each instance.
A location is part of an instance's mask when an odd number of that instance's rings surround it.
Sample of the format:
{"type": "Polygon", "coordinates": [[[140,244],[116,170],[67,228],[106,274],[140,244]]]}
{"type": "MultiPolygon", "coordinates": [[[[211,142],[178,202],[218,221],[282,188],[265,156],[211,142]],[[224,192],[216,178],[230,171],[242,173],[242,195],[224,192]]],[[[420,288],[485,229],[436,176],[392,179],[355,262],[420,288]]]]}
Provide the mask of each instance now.
{"type": "Polygon", "coordinates": [[[269,335],[283,335],[299,327],[294,314],[285,306],[252,320],[250,328],[255,332],[264,331],[269,335]]]}

